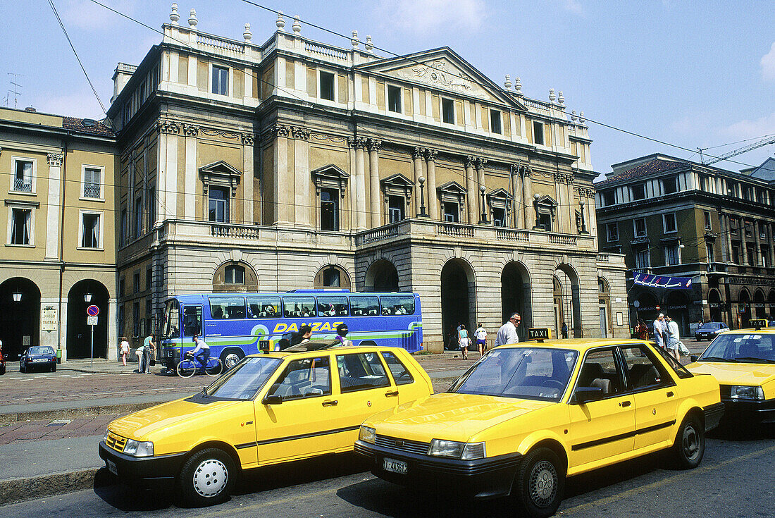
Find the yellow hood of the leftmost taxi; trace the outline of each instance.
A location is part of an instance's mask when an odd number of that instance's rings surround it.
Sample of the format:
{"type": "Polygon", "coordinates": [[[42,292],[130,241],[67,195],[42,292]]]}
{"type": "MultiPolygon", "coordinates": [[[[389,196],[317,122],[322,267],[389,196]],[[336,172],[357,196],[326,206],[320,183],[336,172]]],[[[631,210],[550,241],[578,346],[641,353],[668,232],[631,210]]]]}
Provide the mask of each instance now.
{"type": "Polygon", "coordinates": [[[241,403],[244,402],[215,401],[202,405],[186,401],[186,399],[177,399],[136,413],[130,413],[129,416],[121,417],[110,423],[108,428],[122,437],[148,440],[151,438],[150,434],[169,430],[171,426],[181,422],[185,422],[188,428],[191,428],[192,424],[200,419],[203,423],[218,422],[222,415],[228,414],[230,409],[241,403]]]}

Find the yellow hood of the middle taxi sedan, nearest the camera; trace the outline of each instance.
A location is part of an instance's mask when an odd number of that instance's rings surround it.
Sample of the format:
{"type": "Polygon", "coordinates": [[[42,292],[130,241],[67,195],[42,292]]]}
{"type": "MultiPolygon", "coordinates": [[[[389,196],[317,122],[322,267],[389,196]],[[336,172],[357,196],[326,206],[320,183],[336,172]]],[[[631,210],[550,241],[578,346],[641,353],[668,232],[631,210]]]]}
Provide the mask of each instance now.
{"type": "Polygon", "coordinates": [[[555,404],[493,395],[442,393],[377,414],[370,421],[380,435],[422,442],[467,441],[491,426],[555,404]]]}

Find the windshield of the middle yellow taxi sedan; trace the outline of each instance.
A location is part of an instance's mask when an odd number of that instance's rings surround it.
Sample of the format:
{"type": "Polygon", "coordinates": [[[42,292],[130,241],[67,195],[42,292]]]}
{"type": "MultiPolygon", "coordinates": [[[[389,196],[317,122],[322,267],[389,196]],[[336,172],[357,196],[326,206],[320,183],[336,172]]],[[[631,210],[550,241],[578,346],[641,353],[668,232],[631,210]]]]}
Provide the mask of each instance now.
{"type": "Polygon", "coordinates": [[[495,349],[477,361],[449,392],[559,401],[577,357],[577,351],[567,349],[495,349]]]}

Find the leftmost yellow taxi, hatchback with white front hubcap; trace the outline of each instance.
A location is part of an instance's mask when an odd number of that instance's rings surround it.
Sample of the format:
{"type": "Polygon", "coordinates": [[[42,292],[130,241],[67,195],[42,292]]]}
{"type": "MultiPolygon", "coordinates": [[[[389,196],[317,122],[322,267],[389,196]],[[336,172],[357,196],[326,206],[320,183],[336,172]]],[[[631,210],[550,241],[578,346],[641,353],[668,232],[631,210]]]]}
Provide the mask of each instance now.
{"type": "Polygon", "coordinates": [[[189,505],[217,503],[240,471],[352,451],[368,416],[432,393],[397,347],[253,355],[196,395],[112,421],[99,454],[119,479],[175,482],[189,505]]]}

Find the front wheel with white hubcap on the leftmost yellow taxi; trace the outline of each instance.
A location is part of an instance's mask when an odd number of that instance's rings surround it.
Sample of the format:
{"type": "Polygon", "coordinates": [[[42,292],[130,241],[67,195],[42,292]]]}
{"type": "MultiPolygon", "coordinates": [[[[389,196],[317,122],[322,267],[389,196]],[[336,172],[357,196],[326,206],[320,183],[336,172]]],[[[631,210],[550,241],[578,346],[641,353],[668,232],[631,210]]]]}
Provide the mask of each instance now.
{"type": "Polygon", "coordinates": [[[210,506],[229,497],[236,468],[225,451],[208,448],[185,461],[177,475],[177,487],[189,506],[210,506]]]}

